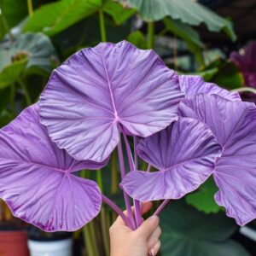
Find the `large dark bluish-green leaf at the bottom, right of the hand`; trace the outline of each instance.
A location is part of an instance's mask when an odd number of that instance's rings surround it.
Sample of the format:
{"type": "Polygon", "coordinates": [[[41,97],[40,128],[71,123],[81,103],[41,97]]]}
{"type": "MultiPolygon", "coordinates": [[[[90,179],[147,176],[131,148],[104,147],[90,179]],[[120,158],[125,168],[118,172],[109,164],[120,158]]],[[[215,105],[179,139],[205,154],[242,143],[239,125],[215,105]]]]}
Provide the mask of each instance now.
{"type": "Polygon", "coordinates": [[[204,214],[175,201],[160,218],[162,256],[249,256],[230,239],[236,224],[224,213],[204,214]]]}

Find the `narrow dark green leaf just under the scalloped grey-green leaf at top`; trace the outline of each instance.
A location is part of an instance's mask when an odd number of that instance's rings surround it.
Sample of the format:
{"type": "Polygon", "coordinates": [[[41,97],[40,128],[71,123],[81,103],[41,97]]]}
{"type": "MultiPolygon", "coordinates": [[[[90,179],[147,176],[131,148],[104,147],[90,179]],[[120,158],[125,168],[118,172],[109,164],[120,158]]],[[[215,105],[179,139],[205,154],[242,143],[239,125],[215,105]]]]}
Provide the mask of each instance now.
{"type": "Polygon", "coordinates": [[[166,18],[164,23],[167,30],[175,34],[178,38],[182,38],[187,42],[193,43],[197,47],[204,47],[198,32],[196,32],[191,26],[188,26],[179,20],[171,20],[170,18],[166,18]]]}

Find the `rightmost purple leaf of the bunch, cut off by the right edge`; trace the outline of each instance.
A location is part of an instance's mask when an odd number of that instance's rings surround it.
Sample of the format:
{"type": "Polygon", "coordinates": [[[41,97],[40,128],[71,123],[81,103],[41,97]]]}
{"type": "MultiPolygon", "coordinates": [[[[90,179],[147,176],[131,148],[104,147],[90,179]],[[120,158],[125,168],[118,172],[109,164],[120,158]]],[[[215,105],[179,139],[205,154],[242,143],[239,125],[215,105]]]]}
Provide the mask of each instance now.
{"type": "Polygon", "coordinates": [[[213,172],[219,189],[215,200],[237,224],[247,224],[256,218],[255,105],[197,95],[183,100],[179,110],[207,124],[223,146],[213,172]]]}

